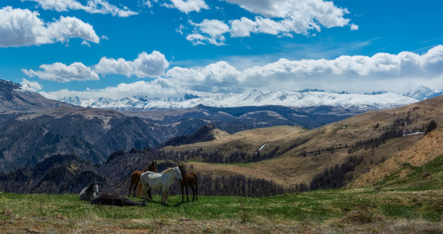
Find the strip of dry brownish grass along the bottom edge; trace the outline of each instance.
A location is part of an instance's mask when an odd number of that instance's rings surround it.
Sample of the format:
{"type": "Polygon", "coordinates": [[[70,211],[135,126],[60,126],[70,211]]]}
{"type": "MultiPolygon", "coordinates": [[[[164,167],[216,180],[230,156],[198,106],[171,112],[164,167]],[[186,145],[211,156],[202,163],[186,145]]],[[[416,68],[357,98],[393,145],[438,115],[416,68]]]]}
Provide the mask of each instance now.
{"type": "MultiPolygon", "coordinates": [[[[350,212],[352,215],[352,212],[350,212]]],[[[66,219],[21,218],[0,220],[1,233],[442,233],[443,222],[387,219],[331,219],[324,223],[233,219],[66,219]]]]}

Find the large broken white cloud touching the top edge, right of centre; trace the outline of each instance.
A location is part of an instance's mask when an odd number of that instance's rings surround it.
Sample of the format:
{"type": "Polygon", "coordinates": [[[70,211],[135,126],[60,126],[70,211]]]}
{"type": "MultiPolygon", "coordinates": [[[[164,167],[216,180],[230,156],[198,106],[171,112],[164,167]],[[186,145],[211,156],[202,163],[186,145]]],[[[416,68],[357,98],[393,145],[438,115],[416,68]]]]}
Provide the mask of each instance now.
{"type": "Polygon", "coordinates": [[[311,31],[320,32],[322,27],[343,27],[350,25],[351,30],[359,26],[349,24],[344,15],[349,11],[339,8],[332,1],[323,0],[225,0],[255,14],[253,19],[241,17],[228,21],[204,19],[196,24],[190,21],[195,30],[187,38],[193,44],[224,44],[225,33],[231,37],[249,37],[251,33],[265,33],[278,37],[292,37],[293,34],[309,35],[311,31]],[[196,35],[201,35],[197,39],[196,35]],[[221,40],[223,39],[223,40],[221,40]],[[214,42],[214,43],[211,43],[214,42]]]}

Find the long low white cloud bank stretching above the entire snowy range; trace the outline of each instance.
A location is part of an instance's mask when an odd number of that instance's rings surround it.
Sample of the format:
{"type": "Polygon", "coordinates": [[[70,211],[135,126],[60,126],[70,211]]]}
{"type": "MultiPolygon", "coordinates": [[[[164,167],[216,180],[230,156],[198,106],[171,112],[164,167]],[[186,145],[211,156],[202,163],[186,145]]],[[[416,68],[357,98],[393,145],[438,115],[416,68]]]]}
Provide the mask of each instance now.
{"type": "MultiPolygon", "coordinates": [[[[118,63],[118,60],[115,61],[118,63]]],[[[129,74],[124,71],[119,72],[123,75],[129,74]]],[[[280,59],[243,71],[224,61],[195,68],[175,66],[166,71],[164,77],[149,82],[119,84],[117,87],[92,91],[64,89],[42,94],[55,99],[66,96],[180,97],[185,93],[205,96],[211,93],[236,93],[245,89],[270,91],[316,88],[343,91],[343,87],[346,87],[345,91],[355,93],[380,90],[405,92],[415,89],[420,84],[435,89],[443,88],[443,46],[435,46],[422,55],[405,51],[397,55],[377,53],[372,57],[343,55],[334,60],[280,59]]]]}

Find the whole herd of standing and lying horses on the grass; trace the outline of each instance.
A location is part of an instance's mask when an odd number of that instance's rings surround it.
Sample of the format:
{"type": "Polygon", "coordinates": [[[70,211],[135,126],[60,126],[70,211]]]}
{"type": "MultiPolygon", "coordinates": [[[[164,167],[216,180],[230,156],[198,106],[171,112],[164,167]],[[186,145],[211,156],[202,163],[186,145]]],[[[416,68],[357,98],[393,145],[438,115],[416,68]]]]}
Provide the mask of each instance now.
{"type": "Polygon", "coordinates": [[[138,188],[138,194],[143,192],[143,203],[138,203],[121,197],[120,195],[112,193],[100,193],[98,192],[98,183],[94,182],[89,186],[83,188],[80,192],[80,199],[91,201],[91,204],[107,204],[115,206],[145,206],[145,201],[152,199],[151,190],[161,190],[161,202],[163,204],[168,203],[168,192],[174,178],[179,179],[181,186],[181,201],[184,201],[184,190],[186,190],[186,201],[188,198],[188,188],[192,189],[192,201],[197,201],[197,184],[199,178],[195,172],[186,172],[183,165],[168,168],[163,172],[157,172],[157,162],[152,163],[143,171],[136,170],[131,174],[131,185],[129,186],[128,197],[131,195],[131,190],[134,188],[134,197],[136,197],[136,190],[138,188]]]}

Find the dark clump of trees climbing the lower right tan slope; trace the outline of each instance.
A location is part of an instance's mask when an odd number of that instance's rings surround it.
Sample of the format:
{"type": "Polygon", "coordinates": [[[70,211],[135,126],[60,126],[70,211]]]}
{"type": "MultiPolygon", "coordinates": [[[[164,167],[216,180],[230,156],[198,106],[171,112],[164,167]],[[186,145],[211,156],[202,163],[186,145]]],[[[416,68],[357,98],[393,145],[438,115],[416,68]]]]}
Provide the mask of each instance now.
{"type": "Polygon", "coordinates": [[[349,156],[345,163],[325,168],[323,173],[316,174],[311,183],[309,183],[309,190],[341,188],[345,186],[345,181],[352,179],[352,173],[348,174],[348,172],[353,172],[361,161],[363,161],[363,156],[349,156]]]}

